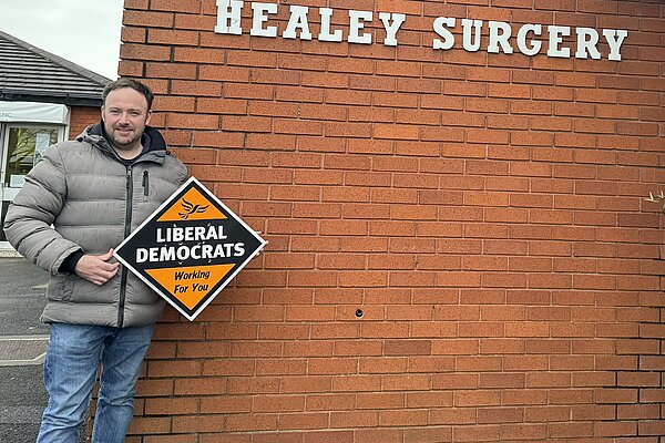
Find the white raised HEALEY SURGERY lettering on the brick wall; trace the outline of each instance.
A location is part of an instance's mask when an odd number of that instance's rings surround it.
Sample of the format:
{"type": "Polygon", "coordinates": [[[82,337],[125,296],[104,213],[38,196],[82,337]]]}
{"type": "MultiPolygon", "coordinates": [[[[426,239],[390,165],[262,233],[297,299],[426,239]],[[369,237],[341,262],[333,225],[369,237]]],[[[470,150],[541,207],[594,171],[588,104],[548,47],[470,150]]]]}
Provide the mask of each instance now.
{"type": "MultiPolygon", "coordinates": [[[[217,23],[215,32],[219,34],[239,35],[245,30],[242,25],[242,12],[245,2],[241,0],[217,0],[217,23]]],[[[278,3],[250,2],[252,28],[249,34],[254,37],[277,38],[279,37],[278,25],[274,16],[280,8],[286,6],[278,3]]],[[[291,40],[313,40],[341,42],[347,41],[355,44],[371,44],[374,42],[372,33],[366,29],[367,23],[375,20],[372,11],[349,10],[348,31],[335,29],[332,18],[345,16],[342,12],[336,12],[331,8],[318,8],[320,17],[319,33],[314,35],[309,27],[309,13],[316,14],[314,8],[295,6],[288,7],[288,20],[283,24],[284,30],[280,37],[291,40]]],[[[387,47],[397,47],[399,44],[398,34],[407,16],[403,13],[379,12],[380,20],[386,38],[382,43],[387,47]]],[[[483,40],[481,35],[487,30],[489,34],[488,43],[484,50],[489,53],[512,54],[520,52],[524,55],[533,56],[542,53],[551,58],[570,59],[592,59],[601,60],[606,58],[612,61],[621,61],[621,49],[623,42],[628,35],[628,31],[620,29],[603,29],[598,31],[593,28],[571,28],[565,25],[544,25],[538,23],[522,24],[516,35],[512,34],[510,23],[503,21],[487,21],[461,19],[462,44],[461,48],[468,52],[480,51],[483,40]],[[601,38],[602,35],[602,38],[601,38]],[[604,40],[604,41],[603,41],[604,40]],[[610,51],[603,54],[598,50],[600,43],[606,43],[610,51]]],[[[433,20],[432,49],[448,51],[456,44],[456,34],[451,30],[456,29],[458,19],[454,17],[438,17],[433,20]]]]}

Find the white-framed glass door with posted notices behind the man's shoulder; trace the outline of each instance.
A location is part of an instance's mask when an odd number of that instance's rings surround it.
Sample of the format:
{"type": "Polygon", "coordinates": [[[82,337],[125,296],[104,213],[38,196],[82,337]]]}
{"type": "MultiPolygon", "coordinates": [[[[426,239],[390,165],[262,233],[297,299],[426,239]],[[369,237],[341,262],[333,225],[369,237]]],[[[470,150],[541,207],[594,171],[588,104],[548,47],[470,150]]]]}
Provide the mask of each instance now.
{"type": "MultiPolygon", "coordinates": [[[[0,124],[0,142],[2,155],[0,162],[0,197],[2,198],[2,216],[9,204],[23,187],[25,175],[39,163],[49,145],[63,140],[64,126],[49,124],[0,124]]],[[[0,229],[0,241],[6,241],[4,231],[0,229]]],[[[2,245],[0,245],[2,246],[2,245]]]]}

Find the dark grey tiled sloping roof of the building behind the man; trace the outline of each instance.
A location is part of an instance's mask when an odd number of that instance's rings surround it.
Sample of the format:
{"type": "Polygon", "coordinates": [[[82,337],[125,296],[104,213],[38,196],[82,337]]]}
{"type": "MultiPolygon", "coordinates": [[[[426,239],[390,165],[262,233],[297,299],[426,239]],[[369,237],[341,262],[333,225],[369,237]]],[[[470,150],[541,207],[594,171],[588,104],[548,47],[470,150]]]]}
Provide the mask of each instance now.
{"type": "Polygon", "coordinates": [[[55,54],[0,31],[0,100],[99,106],[111,82],[55,54]]]}

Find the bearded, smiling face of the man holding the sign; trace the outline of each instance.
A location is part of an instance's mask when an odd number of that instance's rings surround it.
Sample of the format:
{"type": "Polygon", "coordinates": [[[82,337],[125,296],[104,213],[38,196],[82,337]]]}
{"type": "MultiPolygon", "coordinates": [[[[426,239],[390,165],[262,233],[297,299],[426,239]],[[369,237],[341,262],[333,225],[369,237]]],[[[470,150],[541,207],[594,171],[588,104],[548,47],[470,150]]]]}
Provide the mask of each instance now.
{"type": "Polygon", "coordinates": [[[141,135],[151,115],[143,94],[131,87],[111,91],[102,106],[104,130],[119,151],[140,148],[141,135]]]}

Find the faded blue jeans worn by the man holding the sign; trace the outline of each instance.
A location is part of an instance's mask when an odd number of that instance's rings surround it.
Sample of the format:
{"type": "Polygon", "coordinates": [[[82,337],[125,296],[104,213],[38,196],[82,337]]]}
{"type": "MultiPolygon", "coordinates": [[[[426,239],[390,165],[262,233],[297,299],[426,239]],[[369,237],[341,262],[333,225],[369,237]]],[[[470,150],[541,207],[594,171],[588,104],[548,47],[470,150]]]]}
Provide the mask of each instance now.
{"type": "Polygon", "coordinates": [[[49,404],[37,443],[75,443],[90,403],[99,364],[100,393],[94,443],[122,443],[134,415],[134,393],[153,326],[111,328],[51,324],[44,361],[49,404]]]}

